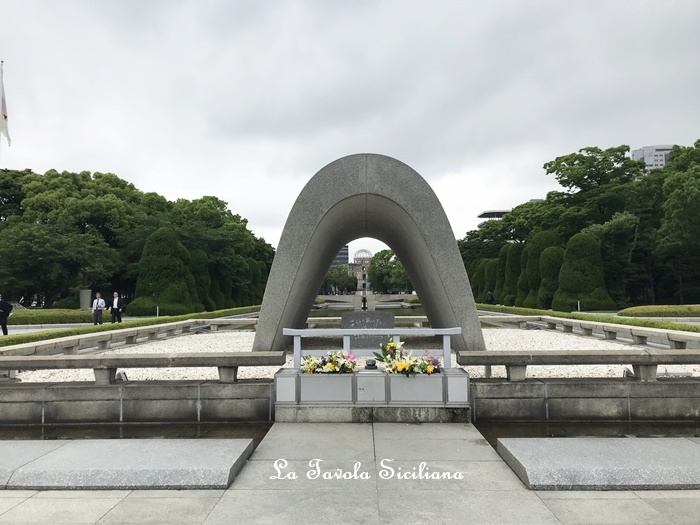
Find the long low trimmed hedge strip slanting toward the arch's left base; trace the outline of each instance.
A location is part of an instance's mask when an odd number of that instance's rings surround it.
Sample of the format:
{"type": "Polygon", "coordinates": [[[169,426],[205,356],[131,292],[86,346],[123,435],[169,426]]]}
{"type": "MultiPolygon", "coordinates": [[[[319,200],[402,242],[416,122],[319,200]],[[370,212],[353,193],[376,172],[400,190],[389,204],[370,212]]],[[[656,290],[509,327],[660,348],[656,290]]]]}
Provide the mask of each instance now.
{"type": "MultiPolygon", "coordinates": [[[[216,319],[219,317],[228,317],[230,315],[241,315],[248,314],[252,312],[259,312],[260,306],[244,306],[241,308],[229,308],[227,310],[217,310],[216,312],[202,312],[196,314],[187,315],[177,315],[177,316],[165,316],[165,317],[152,317],[150,319],[139,319],[137,321],[126,321],[124,323],[118,324],[103,324],[94,326],[90,324],[88,326],[79,328],[66,328],[60,330],[46,330],[43,332],[32,332],[29,334],[18,334],[18,335],[8,335],[5,337],[0,337],[0,347],[2,346],[12,346],[19,345],[23,343],[34,343],[36,341],[46,341],[48,339],[57,339],[59,337],[70,337],[72,335],[83,335],[95,332],[109,332],[110,330],[121,330],[124,328],[138,328],[141,326],[152,326],[157,324],[165,323],[175,323],[177,321],[186,321],[187,319],[216,319]]],[[[12,316],[14,317],[14,315],[12,316]]],[[[92,323],[92,315],[90,316],[90,323],[92,323]]]]}

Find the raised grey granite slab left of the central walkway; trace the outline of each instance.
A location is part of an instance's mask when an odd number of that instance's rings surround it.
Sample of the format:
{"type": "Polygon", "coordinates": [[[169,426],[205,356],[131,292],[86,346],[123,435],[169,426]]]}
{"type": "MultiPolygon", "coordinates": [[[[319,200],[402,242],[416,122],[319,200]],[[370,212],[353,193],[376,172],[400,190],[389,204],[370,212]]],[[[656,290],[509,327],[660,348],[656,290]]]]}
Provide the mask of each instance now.
{"type": "Polygon", "coordinates": [[[6,488],[225,489],[252,451],[251,439],[75,440],[17,467],[6,488]]]}

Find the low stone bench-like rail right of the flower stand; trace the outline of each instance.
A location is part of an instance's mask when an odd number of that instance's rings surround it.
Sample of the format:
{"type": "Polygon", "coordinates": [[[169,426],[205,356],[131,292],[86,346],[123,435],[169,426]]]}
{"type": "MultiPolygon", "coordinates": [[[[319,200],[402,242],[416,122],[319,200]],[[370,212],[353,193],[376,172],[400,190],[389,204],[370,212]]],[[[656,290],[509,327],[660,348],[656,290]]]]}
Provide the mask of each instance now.
{"type": "Polygon", "coordinates": [[[524,381],[528,365],[632,365],[635,378],[656,379],[657,365],[695,365],[700,363],[699,350],[535,350],[535,351],[468,351],[458,352],[460,365],[504,365],[510,381],[524,381]]]}

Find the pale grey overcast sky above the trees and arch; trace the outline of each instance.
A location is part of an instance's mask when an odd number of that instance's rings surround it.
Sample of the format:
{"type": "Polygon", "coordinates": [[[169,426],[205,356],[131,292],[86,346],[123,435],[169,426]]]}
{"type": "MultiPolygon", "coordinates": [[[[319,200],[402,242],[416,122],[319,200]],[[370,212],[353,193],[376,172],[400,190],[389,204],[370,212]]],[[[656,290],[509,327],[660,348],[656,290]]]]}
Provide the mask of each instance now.
{"type": "Polygon", "coordinates": [[[0,167],[215,195],[274,246],[348,154],[413,167],[461,238],[557,156],[700,138],[695,0],[0,0],[0,27],[0,167]]]}

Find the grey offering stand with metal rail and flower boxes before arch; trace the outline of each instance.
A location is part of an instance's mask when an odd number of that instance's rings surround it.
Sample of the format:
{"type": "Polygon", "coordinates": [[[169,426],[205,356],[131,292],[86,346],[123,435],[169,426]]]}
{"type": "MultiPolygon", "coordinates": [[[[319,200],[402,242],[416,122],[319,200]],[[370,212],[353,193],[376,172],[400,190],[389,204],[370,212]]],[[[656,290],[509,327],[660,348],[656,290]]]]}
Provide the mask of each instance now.
{"type": "MultiPolygon", "coordinates": [[[[469,422],[469,375],[461,368],[450,367],[449,338],[458,333],[460,328],[285,328],[285,335],[294,336],[295,368],[281,369],[275,374],[275,421],[469,422]],[[352,373],[310,374],[301,368],[302,356],[327,354],[321,350],[302,350],[302,337],[340,335],[343,336],[345,351],[372,357],[371,350],[351,349],[349,336],[386,337],[387,332],[394,341],[409,334],[443,336],[440,372],[406,376],[386,373],[380,366],[377,370],[358,367],[352,373]]],[[[413,350],[412,353],[424,355],[428,351],[413,350]]]]}

